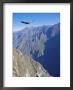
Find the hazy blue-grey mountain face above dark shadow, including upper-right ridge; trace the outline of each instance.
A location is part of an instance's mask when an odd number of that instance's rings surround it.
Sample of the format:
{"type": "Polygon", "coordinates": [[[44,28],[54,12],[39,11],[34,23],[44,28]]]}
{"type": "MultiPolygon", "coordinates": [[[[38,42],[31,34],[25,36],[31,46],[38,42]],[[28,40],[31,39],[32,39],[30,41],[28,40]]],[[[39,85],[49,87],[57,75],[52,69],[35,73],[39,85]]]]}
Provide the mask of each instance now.
{"type": "Polygon", "coordinates": [[[32,55],[32,58],[43,56],[46,43],[56,36],[59,29],[59,23],[52,26],[24,28],[13,33],[13,47],[19,49],[24,55],[32,55]]]}

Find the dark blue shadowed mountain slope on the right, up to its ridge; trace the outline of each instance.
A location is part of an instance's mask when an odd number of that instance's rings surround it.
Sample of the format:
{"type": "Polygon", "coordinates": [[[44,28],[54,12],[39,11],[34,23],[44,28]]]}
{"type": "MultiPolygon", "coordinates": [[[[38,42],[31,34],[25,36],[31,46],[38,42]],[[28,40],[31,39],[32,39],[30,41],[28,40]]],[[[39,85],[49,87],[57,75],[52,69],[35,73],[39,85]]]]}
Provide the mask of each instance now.
{"type": "Polygon", "coordinates": [[[34,59],[55,77],[60,76],[60,24],[50,27],[47,31],[44,55],[34,59]]]}

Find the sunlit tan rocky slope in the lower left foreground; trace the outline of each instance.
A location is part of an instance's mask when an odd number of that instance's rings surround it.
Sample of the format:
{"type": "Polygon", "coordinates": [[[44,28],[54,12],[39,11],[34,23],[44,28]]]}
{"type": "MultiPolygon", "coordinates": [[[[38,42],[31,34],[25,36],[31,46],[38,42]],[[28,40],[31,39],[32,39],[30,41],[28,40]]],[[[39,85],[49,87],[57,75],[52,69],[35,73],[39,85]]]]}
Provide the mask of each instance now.
{"type": "Polygon", "coordinates": [[[49,77],[49,73],[42,65],[31,57],[23,55],[21,51],[13,49],[14,77],[49,77]]]}

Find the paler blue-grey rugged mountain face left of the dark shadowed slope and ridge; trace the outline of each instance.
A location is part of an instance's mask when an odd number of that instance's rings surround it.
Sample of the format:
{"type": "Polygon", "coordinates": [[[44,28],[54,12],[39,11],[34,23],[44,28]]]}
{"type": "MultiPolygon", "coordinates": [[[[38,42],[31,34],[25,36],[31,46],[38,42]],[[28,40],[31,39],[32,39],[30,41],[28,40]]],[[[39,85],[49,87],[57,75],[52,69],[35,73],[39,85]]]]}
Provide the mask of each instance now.
{"type": "Polygon", "coordinates": [[[35,52],[38,52],[38,56],[43,55],[48,27],[25,28],[22,31],[13,33],[13,47],[28,56],[35,54],[35,52]]]}

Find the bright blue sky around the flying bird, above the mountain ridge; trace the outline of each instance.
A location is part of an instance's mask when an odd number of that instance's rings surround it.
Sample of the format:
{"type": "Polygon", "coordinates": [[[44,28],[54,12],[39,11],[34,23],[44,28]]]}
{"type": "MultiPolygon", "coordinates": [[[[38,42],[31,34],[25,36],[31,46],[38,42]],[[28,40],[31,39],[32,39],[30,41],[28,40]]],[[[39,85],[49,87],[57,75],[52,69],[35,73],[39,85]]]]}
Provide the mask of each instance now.
{"type": "Polygon", "coordinates": [[[60,13],[13,13],[13,31],[20,31],[26,27],[53,25],[60,22],[60,13]],[[23,24],[21,21],[31,22],[23,24]]]}

